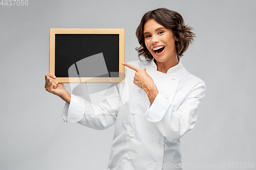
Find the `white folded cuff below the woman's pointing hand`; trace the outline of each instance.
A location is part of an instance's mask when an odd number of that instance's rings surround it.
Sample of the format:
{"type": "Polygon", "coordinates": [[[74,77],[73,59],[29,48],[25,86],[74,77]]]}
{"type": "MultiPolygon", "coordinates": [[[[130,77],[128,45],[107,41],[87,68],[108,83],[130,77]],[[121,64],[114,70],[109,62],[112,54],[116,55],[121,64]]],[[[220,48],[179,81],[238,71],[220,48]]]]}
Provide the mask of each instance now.
{"type": "Polygon", "coordinates": [[[161,93],[158,93],[153,104],[148,105],[144,117],[150,122],[159,122],[163,118],[170,104],[171,102],[168,99],[161,93]]]}

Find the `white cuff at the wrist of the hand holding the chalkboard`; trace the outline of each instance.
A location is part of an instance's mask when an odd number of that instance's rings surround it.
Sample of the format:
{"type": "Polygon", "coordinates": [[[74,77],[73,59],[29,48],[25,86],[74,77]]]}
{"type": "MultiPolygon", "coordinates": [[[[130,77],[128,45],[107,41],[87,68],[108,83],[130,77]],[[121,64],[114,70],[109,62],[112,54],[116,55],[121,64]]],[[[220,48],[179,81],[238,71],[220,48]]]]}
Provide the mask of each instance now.
{"type": "Polygon", "coordinates": [[[79,122],[84,116],[84,110],[86,105],[84,104],[84,99],[71,94],[70,104],[65,103],[64,109],[62,111],[62,118],[64,122],[76,123],[79,122]]]}

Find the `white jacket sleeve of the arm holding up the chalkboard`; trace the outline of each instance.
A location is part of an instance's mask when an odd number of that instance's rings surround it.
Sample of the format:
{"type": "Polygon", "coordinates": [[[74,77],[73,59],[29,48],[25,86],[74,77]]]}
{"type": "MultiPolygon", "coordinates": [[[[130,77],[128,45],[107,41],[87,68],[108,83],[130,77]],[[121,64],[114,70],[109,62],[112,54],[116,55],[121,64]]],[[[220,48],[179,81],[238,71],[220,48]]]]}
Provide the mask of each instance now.
{"type": "MultiPolygon", "coordinates": [[[[121,83],[118,85],[120,88],[123,86],[121,83]]],[[[121,106],[117,88],[117,85],[112,84],[98,105],[93,105],[80,96],[71,94],[70,104],[66,103],[62,112],[63,120],[97,130],[109,128],[115,124],[118,109],[121,106]]]]}

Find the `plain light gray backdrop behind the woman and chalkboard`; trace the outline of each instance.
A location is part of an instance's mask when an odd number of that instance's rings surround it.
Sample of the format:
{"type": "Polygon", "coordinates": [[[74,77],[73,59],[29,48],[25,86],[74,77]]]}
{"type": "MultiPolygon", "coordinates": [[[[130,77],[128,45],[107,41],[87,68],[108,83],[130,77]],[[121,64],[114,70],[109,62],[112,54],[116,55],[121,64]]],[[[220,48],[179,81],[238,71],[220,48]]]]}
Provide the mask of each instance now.
{"type": "Polygon", "coordinates": [[[28,6],[0,6],[0,169],[106,169],[114,126],[97,131],[64,123],[65,102],[44,88],[49,28],[124,28],[129,62],[138,60],[135,30],[142,15],[159,7],[179,12],[195,28],[197,38],[181,62],[207,86],[197,125],[181,139],[183,162],[191,166],[184,169],[256,162],[255,5],[29,0],[28,6]]]}

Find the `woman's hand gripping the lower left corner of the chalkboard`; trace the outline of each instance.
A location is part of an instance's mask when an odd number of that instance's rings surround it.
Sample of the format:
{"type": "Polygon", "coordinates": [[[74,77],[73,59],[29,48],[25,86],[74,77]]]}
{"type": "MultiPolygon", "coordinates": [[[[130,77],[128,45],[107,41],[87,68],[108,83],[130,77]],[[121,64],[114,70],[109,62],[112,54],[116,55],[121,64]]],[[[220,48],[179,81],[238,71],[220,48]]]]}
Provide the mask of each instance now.
{"type": "Polygon", "coordinates": [[[70,103],[70,98],[71,98],[70,93],[67,91],[64,84],[58,83],[55,80],[55,78],[56,78],[56,76],[54,76],[52,74],[45,75],[45,79],[46,79],[45,89],[48,92],[58,95],[61,99],[70,103]]]}

